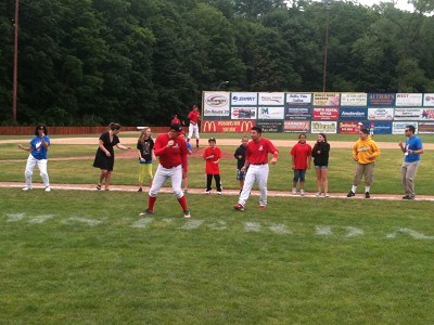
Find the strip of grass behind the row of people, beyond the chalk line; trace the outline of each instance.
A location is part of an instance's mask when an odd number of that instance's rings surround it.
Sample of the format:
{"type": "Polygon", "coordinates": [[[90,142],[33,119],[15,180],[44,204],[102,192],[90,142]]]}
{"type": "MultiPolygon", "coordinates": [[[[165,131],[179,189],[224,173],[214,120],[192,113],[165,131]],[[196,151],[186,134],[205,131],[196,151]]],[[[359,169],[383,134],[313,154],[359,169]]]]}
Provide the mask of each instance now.
{"type": "MultiPolygon", "coordinates": [[[[220,162],[220,173],[224,188],[238,188],[235,180],[235,159],[233,152],[235,146],[221,146],[225,158],[220,162]]],[[[270,166],[268,188],[276,191],[290,191],[292,187],[293,172],[290,168],[291,160],[289,147],[279,147],[281,154],[276,166],[270,166]]],[[[52,183],[87,183],[98,182],[99,169],[92,167],[95,146],[93,145],[52,145],[49,152],[49,174],[52,183]],[[54,160],[51,158],[81,157],[79,160],[54,160]]],[[[116,155],[120,152],[116,151],[116,155]]],[[[28,153],[18,151],[15,145],[0,144],[0,180],[9,182],[24,181],[25,160],[28,153]],[[21,159],[21,161],[7,161],[8,159],[21,159]]],[[[193,188],[205,187],[205,162],[201,155],[190,156],[189,186],[193,188]]],[[[375,180],[371,192],[375,193],[403,193],[400,184],[400,165],[403,154],[399,148],[382,150],[378,162],[375,162],[375,180]]],[[[417,194],[433,195],[432,180],[434,171],[432,168],[433,151],[425,151],[422,155],[416,190],[417,194]]],[[[154,170],[157,164],[154,164],[154,170]]],[[[355,162],[352,158],[352,151],[346,148],[333,148],[330,157],[329,183],[331,193],[348,192],[353,182],[355,162]]],[[[113,172],[112,184],[135,185],[138,178],[137,159],[116,159],[113,172]]],[[[40,182],[38,169],[35,169],[34,180],[40,182]]],[[[315,169],[307,172],[306,190],[316,192],[315,169]]],[[[360,185],[360,192],[363,185],[360,185]]]]}

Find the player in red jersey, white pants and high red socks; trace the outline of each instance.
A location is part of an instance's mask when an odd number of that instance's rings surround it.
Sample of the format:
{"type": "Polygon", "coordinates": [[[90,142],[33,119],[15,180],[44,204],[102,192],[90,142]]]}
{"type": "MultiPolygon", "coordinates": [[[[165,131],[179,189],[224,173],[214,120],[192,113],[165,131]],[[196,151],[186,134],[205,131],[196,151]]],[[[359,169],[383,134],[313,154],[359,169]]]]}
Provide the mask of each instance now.
{"type": "Polygon", "coordinates": [[[188,162],[186,140],[179,136],[182,127],[178,123],[170,126],[168,133],[158,134],[155,139],[154,154],[159,158],[152,186],[149,192],[148,209],[140,216],[153,214],[156,196],[167,179],[171,181],[171,190],[182,207],[183,218],[190,218],[187,199],[181,190],[182,176],[187,174],[188,162]]]}

